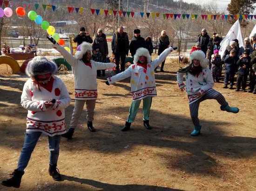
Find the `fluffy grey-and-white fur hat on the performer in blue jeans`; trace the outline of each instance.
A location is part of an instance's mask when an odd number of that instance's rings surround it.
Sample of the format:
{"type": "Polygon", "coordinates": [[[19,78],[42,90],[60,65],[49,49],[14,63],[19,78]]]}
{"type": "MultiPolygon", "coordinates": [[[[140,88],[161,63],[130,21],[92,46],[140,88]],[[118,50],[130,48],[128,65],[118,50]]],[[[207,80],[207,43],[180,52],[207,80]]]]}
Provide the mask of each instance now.
{"type": "Polygon", "coordinates": [[[26,74],[29,77],[43,74],[56,74],[58,66],[46,57],[37,56],[30,60],[26,67],[26,74]]]}

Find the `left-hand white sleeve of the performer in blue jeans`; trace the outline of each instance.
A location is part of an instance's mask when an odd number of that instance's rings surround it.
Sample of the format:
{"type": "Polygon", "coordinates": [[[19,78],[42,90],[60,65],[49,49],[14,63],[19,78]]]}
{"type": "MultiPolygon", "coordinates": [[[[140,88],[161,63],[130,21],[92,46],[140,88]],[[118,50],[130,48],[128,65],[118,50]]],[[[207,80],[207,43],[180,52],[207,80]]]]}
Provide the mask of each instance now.
{"type": "Polygon", "coordinates": [[[29,110],[29,111],[46,111],[47,108],[45,106],[45,102],[43,100],[31,100],[31,90],[28,87],[28,82],[24,84],[23,91],[21,94],[21,101],[20,104],[23,108],[29,110]]]}

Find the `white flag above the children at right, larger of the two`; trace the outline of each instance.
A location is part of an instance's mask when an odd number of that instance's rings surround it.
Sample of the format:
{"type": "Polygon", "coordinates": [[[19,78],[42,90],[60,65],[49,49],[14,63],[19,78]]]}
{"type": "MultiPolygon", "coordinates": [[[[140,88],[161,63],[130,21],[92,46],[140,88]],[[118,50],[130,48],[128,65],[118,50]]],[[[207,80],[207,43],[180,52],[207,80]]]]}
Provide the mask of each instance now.
{"type": "Polygon", "coordinates": [[[230,44],[230,42],[234,39],[237,39],[239,42],[239,46],[243,46],[243,36],[240,28],[239,19],[234,23],[234,25],[230,28],[228,34],[221,42],[221,48],[219,54],[221,57],[224,54],[224,51],[226,50],[227,46],[230,44]]]}

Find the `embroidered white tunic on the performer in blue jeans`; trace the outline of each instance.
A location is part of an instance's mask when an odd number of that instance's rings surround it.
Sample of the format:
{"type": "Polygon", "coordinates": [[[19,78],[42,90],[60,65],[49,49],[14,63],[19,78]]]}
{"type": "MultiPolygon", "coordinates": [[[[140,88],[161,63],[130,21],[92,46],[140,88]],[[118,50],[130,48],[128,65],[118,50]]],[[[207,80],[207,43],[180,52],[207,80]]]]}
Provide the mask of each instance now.
{"type": "Polygon", "coordinates": [[[41,86],[39,90],[32,79],[27,80],[20,102],[28,110],[26,132],[42,132],[48,136],[65,134],[65,108],[70,102],[67,88],[60,78],[54,76],[51,92],[41,86]],[[46,108],[45,102],[50,99],[56,102],[53,107],[46,108]]]}

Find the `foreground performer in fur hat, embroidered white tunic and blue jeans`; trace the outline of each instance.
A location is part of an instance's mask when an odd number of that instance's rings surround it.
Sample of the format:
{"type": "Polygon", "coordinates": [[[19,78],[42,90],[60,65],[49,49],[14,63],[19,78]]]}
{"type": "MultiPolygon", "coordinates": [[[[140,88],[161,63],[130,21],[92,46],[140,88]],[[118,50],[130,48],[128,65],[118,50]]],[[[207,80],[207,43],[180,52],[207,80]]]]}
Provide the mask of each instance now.
{"type": "MultiPolygon", "coordinates": [[[[41,134],[48,136],[50,161],[49,174],[54,180],[61,180],[57,169],[61,134],[66,133],[65,108],[71,102],[67,88],[57,73],[57,65],[45,57],[34,57],[26,68],[30,77],[23,87],[21,105],[27,109],[27,129],[20,153],[18,167],[11,178],[2,181],[7,187],[20,187],[21,178],[41,134]]],[[[42,161],[37,159],[37,164],[42,161]]]]}

